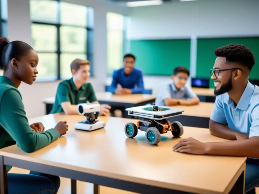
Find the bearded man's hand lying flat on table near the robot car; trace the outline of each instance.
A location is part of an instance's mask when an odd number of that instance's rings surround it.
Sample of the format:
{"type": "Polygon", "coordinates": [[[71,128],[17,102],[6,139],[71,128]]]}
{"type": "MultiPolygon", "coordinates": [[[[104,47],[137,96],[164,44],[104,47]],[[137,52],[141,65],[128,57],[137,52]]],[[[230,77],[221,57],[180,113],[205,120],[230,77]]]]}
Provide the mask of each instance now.
{"type": "Polygon", "coordinates": [[[181,139],[172,147],[172,151],[190,154],[206,154],[207,150],[206,144],[192,137],[181,139]]]}

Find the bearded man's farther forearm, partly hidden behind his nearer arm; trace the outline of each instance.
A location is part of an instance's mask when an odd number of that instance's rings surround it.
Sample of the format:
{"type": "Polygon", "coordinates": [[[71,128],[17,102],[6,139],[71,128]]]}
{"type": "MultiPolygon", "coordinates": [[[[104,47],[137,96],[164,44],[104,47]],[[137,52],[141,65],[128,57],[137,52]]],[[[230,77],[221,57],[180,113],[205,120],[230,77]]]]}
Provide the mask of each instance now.
{"type": "Polygon", "coordinates": [[[212,135],[230,140],[236,140],[236,133],[238,133],[237,131],[229,129],[226,125],[217,123],[211,119],[209,129],[212,135]]]}

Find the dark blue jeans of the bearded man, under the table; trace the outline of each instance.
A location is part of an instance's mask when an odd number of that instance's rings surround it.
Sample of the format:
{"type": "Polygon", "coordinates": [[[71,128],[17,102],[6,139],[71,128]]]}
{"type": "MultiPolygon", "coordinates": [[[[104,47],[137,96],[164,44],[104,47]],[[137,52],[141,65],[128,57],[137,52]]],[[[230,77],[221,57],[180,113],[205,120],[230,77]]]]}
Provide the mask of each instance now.
{"type": "Polygon", "coordinates": [[[259,159],[248,158],[246,160],[245,193],[255,193],[259,186],[259,159]]]}

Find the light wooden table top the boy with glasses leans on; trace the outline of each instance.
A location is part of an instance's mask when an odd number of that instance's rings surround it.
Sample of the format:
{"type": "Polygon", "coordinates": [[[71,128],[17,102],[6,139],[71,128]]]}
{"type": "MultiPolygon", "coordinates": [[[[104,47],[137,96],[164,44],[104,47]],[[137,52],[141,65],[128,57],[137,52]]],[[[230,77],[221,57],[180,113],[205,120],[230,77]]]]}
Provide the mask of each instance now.
{"type": "Polygon", "coordinates": [[[192,106],[176,105],[176,106],[172,106],[172,107],[184,109],[183,115],[210,117],[211,112],[214,107],[214,103],[213,102],[200,102],[198,105],[192,105],[192,106]]]}

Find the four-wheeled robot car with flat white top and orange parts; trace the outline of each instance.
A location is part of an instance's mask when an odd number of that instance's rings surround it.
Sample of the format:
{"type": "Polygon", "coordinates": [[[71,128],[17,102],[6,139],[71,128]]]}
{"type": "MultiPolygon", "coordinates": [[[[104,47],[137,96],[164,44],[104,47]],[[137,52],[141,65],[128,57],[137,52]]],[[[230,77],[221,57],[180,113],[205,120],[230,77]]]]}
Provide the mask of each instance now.
{"type": "Polygon", "coordinates": [[[134,123],[127,123],[124,131],[127,137],[133,138],[137,135],[138,129],[146,132],[146,140],[151,145],[156,145],[161,140],[161,135],[172,132],[174,137],[180,137],[183,135],[183,125],[174,121],[170,123],[168,118],[182,114],[183,109],[172,108],[166,106],[156,106],[154,103],[146,106],[138,106],[127,108],[128,115],[138,116],[141,120],[137,125],[134,123]]]}

